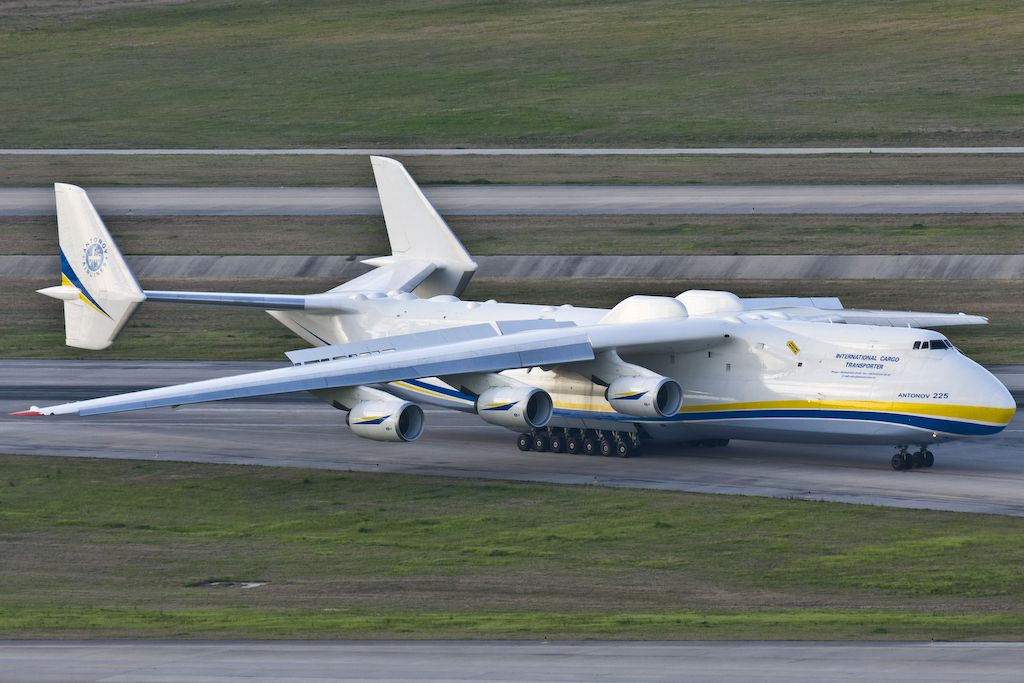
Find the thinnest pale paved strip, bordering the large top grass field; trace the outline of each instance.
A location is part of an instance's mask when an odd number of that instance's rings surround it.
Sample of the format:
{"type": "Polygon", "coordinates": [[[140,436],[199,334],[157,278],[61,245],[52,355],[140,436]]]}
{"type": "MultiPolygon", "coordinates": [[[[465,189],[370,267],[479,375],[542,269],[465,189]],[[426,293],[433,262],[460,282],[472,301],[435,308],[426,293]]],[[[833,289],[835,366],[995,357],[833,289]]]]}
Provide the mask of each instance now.
{"type": "Polygon", "coordinates": [[[803,155],[1020,155],[1024,147],[296,147],[296,148],[13,148],[20,157],[660,157],[803,155]]]}

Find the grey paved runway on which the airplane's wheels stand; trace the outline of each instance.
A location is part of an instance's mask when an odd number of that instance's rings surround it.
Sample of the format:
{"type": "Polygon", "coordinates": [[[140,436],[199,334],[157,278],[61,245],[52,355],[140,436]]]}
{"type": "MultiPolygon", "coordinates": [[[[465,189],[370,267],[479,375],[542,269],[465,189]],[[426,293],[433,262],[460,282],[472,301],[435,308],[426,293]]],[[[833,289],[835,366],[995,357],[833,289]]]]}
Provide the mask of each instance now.
{"type": "MultiPolygon", "coordinates": [[[[894,472],[886,446],[733,441],[648,449],[640,458],[521,453],[514,433],[426,410],[414,443],[353,436],[344,414],[302,395],[91,418],[13,418],[31,404],[280,367],[224,361],[0,361],[0,453],[238,463],[840,501],[1024,515],[1024,417],[1002,433],[934,449],[936,465],[894,472]]],[[[995,369],[1020,396],[1024,371],[995,369]]]]}

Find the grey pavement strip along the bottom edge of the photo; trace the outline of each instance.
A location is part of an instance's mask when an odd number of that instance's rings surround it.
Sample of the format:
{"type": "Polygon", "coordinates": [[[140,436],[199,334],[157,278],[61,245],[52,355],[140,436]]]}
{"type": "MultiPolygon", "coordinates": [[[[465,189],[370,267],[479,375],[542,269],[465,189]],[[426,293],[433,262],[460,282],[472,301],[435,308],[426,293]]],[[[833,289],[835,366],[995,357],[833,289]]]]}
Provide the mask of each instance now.
{"type": "Polygon", "coordinates": [[[0,681],[1017,683],[1021,643],[0,642],[0,681]]]}

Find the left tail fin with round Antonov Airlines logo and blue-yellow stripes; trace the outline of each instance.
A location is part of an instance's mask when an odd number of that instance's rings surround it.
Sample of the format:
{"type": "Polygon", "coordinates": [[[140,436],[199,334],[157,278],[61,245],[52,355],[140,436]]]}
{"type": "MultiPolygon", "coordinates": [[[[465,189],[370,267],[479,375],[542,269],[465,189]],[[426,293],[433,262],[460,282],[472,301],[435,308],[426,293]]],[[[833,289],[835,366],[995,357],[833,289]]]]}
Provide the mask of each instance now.
{"type": "Polygon", "coordinates": [[[60,285],[40,293],[65,302],[67,344],[103,349],[145,299],[88,195],[81,187],[54,183],[60,285]]]}

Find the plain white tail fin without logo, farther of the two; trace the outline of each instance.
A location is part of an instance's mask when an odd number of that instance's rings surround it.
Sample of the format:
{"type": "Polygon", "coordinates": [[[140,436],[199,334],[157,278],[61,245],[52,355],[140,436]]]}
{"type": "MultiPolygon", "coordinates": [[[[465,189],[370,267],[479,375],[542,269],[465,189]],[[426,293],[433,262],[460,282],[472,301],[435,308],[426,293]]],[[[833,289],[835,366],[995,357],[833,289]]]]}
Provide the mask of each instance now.
{"type": "Polygon", "coordinates": [[[387,157],[370,160],[391,242],[391,258],[379,259],[375,265],[402,259],[431,261],[437,269],[414,292],[421,297],[460,294],[476,271],[476,262],[404,166],[387,157]]]}

